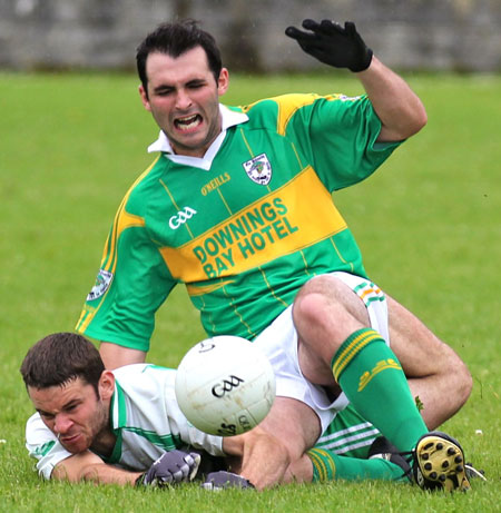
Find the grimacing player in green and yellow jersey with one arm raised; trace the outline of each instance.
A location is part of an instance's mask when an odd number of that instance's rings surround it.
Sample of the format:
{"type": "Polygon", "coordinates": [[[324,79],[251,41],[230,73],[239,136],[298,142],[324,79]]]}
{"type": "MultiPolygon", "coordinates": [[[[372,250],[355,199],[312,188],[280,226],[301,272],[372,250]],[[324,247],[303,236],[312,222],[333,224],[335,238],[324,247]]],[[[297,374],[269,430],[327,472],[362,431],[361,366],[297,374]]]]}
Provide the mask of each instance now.
{"type": "MultiPolygon", "coordinates": [[[[284,433],[292,461],[351,402],[421,468],[424,446],[440,446],[438,457],[461,451],[428,427],[464,403],[471,378],[367,278],[331,194],[370,176],[423,127],[425,111],[353,23],[305,20],[303,28],[286,33],[321,61],[355,72],[366,95],[224,107],[228,71],[207,32],[193,22],[164,24],[143,41],[139,92],[160,127],[150,146],[160,155],[119,207],[77,329],[102,341],[108,367],[143,362],[156,310],[183,283],[209,335],[266,347],[284,393],[263,427],[284,433]]],[[[441,483],[435,463],[424,482],[466,487],[455,467],[441,483]]]]}

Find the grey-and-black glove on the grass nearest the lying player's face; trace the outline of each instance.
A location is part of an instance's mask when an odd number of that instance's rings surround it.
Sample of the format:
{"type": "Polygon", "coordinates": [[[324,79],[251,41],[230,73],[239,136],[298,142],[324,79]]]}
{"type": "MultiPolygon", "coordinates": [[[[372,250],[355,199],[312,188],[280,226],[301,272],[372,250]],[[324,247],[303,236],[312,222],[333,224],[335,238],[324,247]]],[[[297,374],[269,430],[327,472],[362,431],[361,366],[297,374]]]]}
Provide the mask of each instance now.
{"type": "Polygon", "coordinates": [[[200,455],[184,451],[164,453],[147,472],[136,480],[137,486],[164,486],[191,481],[200,464],[200,455]]]}

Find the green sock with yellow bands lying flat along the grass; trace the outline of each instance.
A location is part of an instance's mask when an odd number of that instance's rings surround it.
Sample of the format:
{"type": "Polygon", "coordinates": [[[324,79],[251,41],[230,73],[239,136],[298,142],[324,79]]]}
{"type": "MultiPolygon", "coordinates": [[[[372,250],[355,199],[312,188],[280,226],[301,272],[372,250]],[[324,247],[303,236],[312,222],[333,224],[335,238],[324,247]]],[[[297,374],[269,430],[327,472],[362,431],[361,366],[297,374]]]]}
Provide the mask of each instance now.
{"type": "Polygon", "coordinates": [[[409,481],[399,465],[386,460],[357,460],[317,447],[306,454],[313,464],[313,483],[334,480],[409,481]]]}

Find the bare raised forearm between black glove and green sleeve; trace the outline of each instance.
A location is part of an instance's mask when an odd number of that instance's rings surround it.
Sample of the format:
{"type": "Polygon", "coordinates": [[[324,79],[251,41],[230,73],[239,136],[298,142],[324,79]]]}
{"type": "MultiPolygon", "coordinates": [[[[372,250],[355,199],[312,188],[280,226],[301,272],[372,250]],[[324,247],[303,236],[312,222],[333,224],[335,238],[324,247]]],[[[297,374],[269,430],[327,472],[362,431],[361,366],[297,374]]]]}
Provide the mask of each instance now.
{"type": "Polygon", "coordinates": [[[426,111],[418,95],[376,57],[357,77],[383,125],[380,141],[403,140],[424,127],[426,111]]]}

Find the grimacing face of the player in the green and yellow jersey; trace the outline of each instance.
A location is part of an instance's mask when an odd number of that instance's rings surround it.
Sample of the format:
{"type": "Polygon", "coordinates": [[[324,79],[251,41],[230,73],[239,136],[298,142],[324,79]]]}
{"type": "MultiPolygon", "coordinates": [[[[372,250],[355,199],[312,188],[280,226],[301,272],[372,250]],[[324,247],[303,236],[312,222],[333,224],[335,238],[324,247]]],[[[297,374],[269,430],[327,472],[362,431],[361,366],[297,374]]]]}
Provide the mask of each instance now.
{"type": "Polygon", "coordinates": [[[178,155],[203,157],[220,134],[219,96],[228,88],[228,71],[218,81],[202,47],[174,58],[153,52],[146,60],[148,90],[139,86],[143,105],[178,155]]]}

